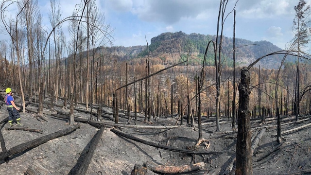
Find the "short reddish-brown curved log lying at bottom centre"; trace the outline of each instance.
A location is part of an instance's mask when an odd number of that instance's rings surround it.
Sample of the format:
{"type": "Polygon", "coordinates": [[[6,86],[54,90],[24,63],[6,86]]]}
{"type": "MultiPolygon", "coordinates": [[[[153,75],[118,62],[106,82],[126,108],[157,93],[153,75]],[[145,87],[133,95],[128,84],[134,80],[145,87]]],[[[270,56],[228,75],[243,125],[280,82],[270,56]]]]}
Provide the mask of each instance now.
{"type": "Polygon", "coordinates": [[[158,165],[154,162],[147,162],[146,167],[155,173],[163,173],[163,174],[178,174],[178,173],[187,173],[195,170],[199,170],[203,168],[205,165],[204,162],[199,162],[195,164],[189,165],[180,165],[180,166],[165,166],[158,165]]]}

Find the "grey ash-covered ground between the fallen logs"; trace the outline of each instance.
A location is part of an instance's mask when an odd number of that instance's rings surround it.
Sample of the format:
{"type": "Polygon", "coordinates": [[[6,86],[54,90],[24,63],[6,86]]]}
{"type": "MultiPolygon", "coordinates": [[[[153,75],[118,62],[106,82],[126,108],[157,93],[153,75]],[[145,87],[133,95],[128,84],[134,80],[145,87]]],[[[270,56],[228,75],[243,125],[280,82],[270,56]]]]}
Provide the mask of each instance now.
{"type": "MultiPolygon", "coordinates": [[[[19,104],[19,98],[15,97],[15,101],[19,104]]],[[[49,98],[45,99],[49,102],[49,98]]],[[[56,104],[56,103],[55,103],[56,104]]],[[[57,105],[62,105],[63,101],[58,100],[57,105]]],[[[28,105],[29,110],[36,111],[35,105],[28,105]]],[[[86,109],[85,105],[79,105],[77,108],[86,109]]],[[[69,109],[64,110],[56,107],[57,111],[69,113],[69,109]]],[[[94,109],[95,110],[95,109],[94,109]]],[[[104,111],[111,113],[109,107],[104,107],[104,111]]],[[[42,133],[8,130],[9,123],[1,124],[1,133],[3,135],[6,149],[25,143],[30,140],[54,133],[56,131],[69,127],[68,120],[53,117],[48,109],[44,109],[48,122],[38,121],[35,113],[21,112],[21,122],[24,124],[22,128],[38,129],[42,133]]],[[[119,112],[119,123],[126,123],[127,118],[123,116],[123,111],[119,112]]],[[[85,119],[90,118],[90,114],[74,110],[76,117],[85,119]]],[[[8,116],[5,105],[0,108],[0,121],[8,116]]],[[[143,123],[143,114],[138,114],[139,125],[147,125],[143,123]]],[[[112,118],[112,116],[110,116],[112,118]]],[[[303,116],[304,122],[282,125],[282,131],[306,125],[311,123],[308,116],[303,116]],[[309,119],[309,120],[308,120],[309,119]]],[[[102,118],[103,122],[112,122],[109,117],[102,118]]],[[[288,117],[287,119],[289,119],[288,117]]],[[[301,117],[302,118],[302,117],[301,117]]],[[[94,119],[96,117],[94,116],[94,119]]],[[[261,126],[276,125],[276,117],[267,118],[267,125],[259,125],[260,119],[251,121],[252,132],[255,138],[260,132],[261,126]]],[[[174,125],[175,118],[157,118],[157,123],[152,120],[149,126],[174,125]]],[[[283,119],[286,120],[286,119],[283,119]]],[[[130,121],[134,124],[134,119],[130,121]]],[[[99,128],[91,126],[87,123],[80,124],[80,128],[68,135],[50,140],[35,148],[20,152],[9,157],[7,161],[0,161],[0,175],[24,175],[27,169],[35,164],[41,165],[52,175],[67,175],[73,167],[77,166],[78,159],[84,157],[92,138],[99,128]]],[[[190,125],[186,125],[184,121],[183,127],[171,129],[147,129],[147,128],[127,128],[127,127],[111,127],[106,125],[104,133],[99,141],[89,167],[87,175],[130,175],[135,164],[143,165],[147,161],[152,161],[160,165],[176,166],[188,165],[198,162],[204,162],[203,169],[189,172],[186,174],[193,175],[224,175],[230,172],[230,165],[235,158],[235,152],[226,152],[223,154],[210,155],[190,155],[186,153],[173,152],[149,146],[134,140],[126,139],[116,135],[112,131],[118,129],[123,133],[135,136],[137,138],[167,145],[174,148],[185,150],[204,151],[205,145],[195,147],[198,140],[198,128],[196,130],[190,125]]],[[[197,126],[197,121],[196,121],[197,126]]],[[[207,119],[203,117],[203,137],[210,141],[209,151],[235,150],[237,132],[231,132],[230,121],[228,118],[221,120],[221,132],[216,131],[215,118],[207,119]],[[226,133],[226,131],[228,131],[226,133]],[[230,131],[230,132],[229,132],[230,131]]],[[[17,126],[14,126],[17,127],[17,126]]],[[[290,174],[306,174],[311,173],[311,127],[298,130],[289,135],[283,135],[286,140],[278,150],[270,156],[257,161],[260,157],[269,153],[278,143],[276,138],[271,135],[276,134],[276,127],[268,127],[263,137],[259,141],[258,147],[254,151],[253,156],[253,174],[254,175],[290,175],[290,174]]],[[[254,139],[255,140],[255,139],[254,139]]],[[[147,175],[155,175],[156,173],[148,170],[147,175]]],[[[234,172],[233,172],[234,174],[234,172]]]]}

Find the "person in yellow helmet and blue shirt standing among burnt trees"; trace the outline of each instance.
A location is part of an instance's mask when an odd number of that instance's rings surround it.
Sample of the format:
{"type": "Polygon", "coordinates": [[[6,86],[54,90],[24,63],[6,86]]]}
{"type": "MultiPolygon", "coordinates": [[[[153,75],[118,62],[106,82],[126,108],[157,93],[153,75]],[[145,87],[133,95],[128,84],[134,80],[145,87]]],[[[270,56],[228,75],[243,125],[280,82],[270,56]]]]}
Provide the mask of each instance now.
{"type": "Polygon", "coordinates": [[[19,108],[14,103],[14,98],[12,97],[12,90],[11,88],[6,88],[5,92],[7,93],[5,96],[5,103],[7,110],[9,112],[9,123],[10,126],[13,126],[13,119],[16,119],[17,126],[22,126],[23,124],[20,123],[20,115],[17,112],[19,108]]]}

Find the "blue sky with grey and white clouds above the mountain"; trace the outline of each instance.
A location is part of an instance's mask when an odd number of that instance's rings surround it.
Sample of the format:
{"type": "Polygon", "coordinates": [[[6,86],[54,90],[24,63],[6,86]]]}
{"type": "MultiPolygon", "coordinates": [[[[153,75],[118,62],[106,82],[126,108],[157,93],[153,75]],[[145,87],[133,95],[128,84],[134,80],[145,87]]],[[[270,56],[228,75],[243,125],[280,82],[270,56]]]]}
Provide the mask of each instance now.
{"type": "MultiPolygon", "coordinates": [[[[229,0],[229,13],[237,0],[229,0]]],[[[299,0],[239,0],[236,4],[236,37],[267,40],[285,49],[294,34],[294,6],[299,0]]],[[[306,0],[309,4],[311,0],[306,0]]],[[[47,20],[49,0],[38,0],[47,20]]],[[[63,18],[80,0],[60,0],[63,18]]],[[[219,0],[97,0],[105,22],[114,28],[115,46],[146,45],[165,32],[215,35],[219,0]]],[[[226,14],[227,14],[226,13],[226,14]]],[[[66,25],[63,26],[64,30],[66,25]]],[[[224,35],[233,37],[233,13],[225,21],[224,35]]]]}

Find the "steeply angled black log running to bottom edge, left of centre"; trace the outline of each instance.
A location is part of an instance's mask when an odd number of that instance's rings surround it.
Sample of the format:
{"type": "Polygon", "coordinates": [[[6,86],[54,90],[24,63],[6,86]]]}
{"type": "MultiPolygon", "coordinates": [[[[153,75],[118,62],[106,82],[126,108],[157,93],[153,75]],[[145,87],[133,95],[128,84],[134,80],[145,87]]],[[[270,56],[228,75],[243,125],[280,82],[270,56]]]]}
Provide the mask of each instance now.
{"type": "Polygon", "coordinates": [[[82,162],[77,162],[79,164],[79,166],[76,168],[76,170],[73,171],[73,175],[85,175],[87,168],[89,166],[89,163],[91,162],[91,159],[93,157],[94,151],[96,149],[96,146],[99,142],[99,140],[101,140],[102,135],[104,132],[104,126],[97,131],[97,133],[94,135],[93,137],[93,141],[87,151],[86,156],[84,157],[84,159],[82,160],[82,162]]]}

